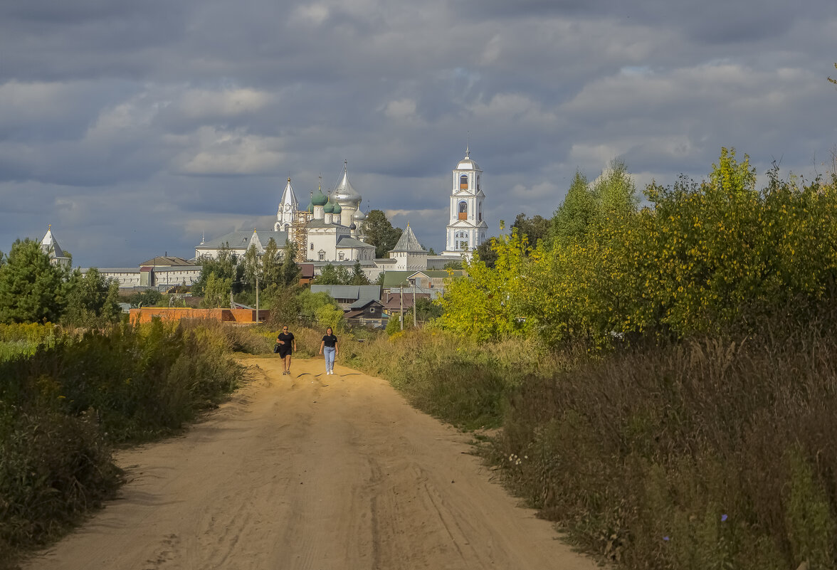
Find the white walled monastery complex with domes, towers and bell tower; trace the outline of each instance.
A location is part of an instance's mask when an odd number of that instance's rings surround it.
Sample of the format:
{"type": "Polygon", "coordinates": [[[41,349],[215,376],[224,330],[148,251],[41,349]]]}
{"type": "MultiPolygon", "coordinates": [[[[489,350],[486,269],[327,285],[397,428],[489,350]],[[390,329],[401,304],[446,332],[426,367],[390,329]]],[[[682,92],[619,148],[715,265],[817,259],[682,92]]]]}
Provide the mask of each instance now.
{"type": "MultiPolygon", "coordinates": [[[[465,157],[453,170],[445,248],[439,255],[428,254],[408,223],[389,257],[376,259],[375,246],[367,243],[367,214],[361,208],[362,195],[349,182],[348,165],[344,162],[334,191],[324,194],[320,184],[306,205],[300,203],[289,177],[272,228],[234,231],[202,239],[191,260],[165,255],[134,268],[100,268],[99,271],[105,277],[118,280],[121,287],[191,285],[200,275],[201,259],[216,258],[224,249],[243,255],[254,247],[259,254],[264,254],[270,239],[279,249],[288,241],[294,242],[296,262],[313,267],[309,275],[319,275],[326,264],[351,266],[360,263],[370,280],[376,280],[382,272],[390,270],[443,269],[444,264],[452,260],[468,257],[485,241],[488,225],[484,219],[485,193],[481,175],[480,167],[470,158],[470,149],[466,148],[465,157]]],[[[54,263],[69,263],[54,239],[51,227],[42,240],[42,248],[52,252],[54,263]]]]}

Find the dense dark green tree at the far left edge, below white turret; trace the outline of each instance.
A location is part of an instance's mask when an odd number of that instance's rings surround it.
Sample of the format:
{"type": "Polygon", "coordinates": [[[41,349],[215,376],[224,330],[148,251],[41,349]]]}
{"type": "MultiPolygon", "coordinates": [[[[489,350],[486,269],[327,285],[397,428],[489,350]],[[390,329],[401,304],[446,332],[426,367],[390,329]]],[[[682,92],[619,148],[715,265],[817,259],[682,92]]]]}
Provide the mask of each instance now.
{"type": "Polygon", "coordinates": [[[66,305],[67,270],[32,239],[18,239],[0,265],[0,322],[56,322],[66,305]]]}

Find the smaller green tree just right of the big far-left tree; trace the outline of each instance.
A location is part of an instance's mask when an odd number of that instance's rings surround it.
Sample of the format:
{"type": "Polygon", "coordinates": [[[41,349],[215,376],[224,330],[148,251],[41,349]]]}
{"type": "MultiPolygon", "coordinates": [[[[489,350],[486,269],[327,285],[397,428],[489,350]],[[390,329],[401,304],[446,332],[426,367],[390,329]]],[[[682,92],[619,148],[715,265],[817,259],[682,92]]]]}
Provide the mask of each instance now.
{"type": "MultiPolygon", "coordinates": [[[[61,321],[74,326],[103,326],[119,320],[119,281],[105,279],[95,267],[69,278],[67,307],[61,321]]],[[[159,295],[159,293],[157,293],[159,295]]]]}

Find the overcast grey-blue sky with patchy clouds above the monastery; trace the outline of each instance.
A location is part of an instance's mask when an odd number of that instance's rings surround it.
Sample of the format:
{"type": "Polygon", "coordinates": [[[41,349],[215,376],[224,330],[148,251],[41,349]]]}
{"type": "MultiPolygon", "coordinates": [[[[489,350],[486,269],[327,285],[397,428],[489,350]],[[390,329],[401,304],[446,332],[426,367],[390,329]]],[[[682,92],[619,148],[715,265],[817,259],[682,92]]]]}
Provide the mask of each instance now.
{"type": "Polygon", "coordinates": [[[439,251],[469,132],[492,235],[616,157],[639,187],[721,146],[810,178],[835,38],[834,0],[3,2],[0,250],[51,223],[74,265],[188,259],[347,160],[364,209],[439,251]]]}

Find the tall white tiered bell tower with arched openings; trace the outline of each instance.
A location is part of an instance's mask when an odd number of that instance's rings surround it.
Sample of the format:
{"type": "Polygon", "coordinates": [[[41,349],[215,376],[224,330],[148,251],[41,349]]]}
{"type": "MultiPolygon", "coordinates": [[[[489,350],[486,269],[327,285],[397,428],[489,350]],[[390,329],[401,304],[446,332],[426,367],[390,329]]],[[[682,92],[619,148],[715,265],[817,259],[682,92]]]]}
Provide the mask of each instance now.
{"type": "Polygon", "coordinates": [[[485,210],[479,165],[470,158],[465,147],[465,158],[454,168],[454,189],[450,193],[450,220],[444,239],[442,255],[470,258],[471,252],[485,241],[485,210]]]}

